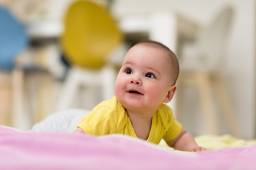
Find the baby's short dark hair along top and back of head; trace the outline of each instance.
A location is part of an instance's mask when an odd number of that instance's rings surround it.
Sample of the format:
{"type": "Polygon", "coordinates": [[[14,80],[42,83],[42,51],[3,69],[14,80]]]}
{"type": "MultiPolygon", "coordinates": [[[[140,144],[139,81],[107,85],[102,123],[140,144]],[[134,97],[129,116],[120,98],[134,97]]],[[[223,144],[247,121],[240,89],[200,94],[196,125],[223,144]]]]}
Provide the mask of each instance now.
{"type": "MultiPolygon", "coordinates": [[[[178,74],[179,74],[179,65],[178,65],[178,59],[173,51],[169,49],[166,45],[162,44],[161,42],[154,41],[154,40],[143,40],[138,42],[136,45],[146,45],[146,46],[151,46],[151,47],[160,47],[161,49],[165,50],[167,54],[169,55],[171,59],[171,78],[173,81],[172,85],[176,84],[176,81],[178,79],[178,74]]],[[[136,46],[134,45],[134,46],[136,46]]]]}

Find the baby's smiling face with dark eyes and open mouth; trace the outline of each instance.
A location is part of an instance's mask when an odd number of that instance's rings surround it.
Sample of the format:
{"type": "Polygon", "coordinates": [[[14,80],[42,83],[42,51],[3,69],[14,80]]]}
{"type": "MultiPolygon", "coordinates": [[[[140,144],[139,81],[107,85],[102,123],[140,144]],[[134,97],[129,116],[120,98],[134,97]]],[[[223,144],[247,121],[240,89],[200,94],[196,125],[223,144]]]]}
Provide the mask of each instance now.
{"type": "Polygon", "coordinates": [[[127,52],[114,93],[127,109],[157,109],[171,88],[171,61],[164,50],[137,45],[127,52]]]}

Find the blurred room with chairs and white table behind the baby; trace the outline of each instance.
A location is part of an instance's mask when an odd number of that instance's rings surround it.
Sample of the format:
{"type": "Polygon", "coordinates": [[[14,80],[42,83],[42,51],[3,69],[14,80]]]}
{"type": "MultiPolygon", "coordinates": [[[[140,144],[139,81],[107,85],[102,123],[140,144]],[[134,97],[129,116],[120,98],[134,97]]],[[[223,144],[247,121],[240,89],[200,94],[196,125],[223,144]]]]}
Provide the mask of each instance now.
{"type": "Polygon", "coordinates": [[[169,106],[192,135],[255,139],[254,0],[0,0],[0,7],[0,125],[30,130],[58,111],[91,110],[114,96],[129,47],[151,39],[178,57],[169,106]]]}

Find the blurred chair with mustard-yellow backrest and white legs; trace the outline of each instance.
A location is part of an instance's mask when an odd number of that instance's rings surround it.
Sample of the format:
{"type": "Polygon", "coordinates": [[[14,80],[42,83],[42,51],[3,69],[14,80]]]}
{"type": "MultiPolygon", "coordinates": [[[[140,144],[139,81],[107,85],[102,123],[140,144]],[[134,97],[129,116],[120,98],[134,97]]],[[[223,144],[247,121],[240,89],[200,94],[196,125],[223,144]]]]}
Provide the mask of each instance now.
{"type": "Polygon", "coordinates": [[[64,28],[60,45],[71,67],[56,111],[72,106],[80,86],[100,86],[102,100],[112,98],[117,73],[107,64],[107,55],[122,42],[122,33],[110,13],[93,1],[75,1],[68,8],[64,28]]]}

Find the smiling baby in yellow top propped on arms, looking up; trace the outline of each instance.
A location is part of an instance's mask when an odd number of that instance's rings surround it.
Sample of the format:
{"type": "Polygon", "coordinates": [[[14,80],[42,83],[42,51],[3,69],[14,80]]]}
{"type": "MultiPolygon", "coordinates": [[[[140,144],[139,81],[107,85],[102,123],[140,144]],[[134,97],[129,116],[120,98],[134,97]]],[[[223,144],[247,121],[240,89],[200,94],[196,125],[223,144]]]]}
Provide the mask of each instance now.
{"type": "Polygon", "coordinates": [[[134,45],[124,57],[114,87],[115,96],[85,115],[75,132],[119,133],[174,149],[198,152],[193,136],[174,119],[169,103],[178,78],[178,60],[168,47],[151,40],[134,45]]]}

